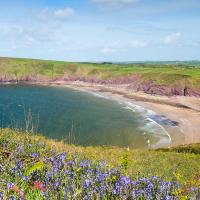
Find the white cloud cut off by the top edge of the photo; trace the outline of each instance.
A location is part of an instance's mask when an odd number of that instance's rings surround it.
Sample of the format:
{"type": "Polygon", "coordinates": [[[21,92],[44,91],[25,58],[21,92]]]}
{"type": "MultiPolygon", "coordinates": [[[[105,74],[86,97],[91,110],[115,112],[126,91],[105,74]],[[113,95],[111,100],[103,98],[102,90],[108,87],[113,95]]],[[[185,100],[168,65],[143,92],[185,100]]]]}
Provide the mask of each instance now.
{"type": "Polygon", "coordinates": [[[91,0],[91,1],[101,6],[126,6],[133,4],[138,0],[91,0]]]}

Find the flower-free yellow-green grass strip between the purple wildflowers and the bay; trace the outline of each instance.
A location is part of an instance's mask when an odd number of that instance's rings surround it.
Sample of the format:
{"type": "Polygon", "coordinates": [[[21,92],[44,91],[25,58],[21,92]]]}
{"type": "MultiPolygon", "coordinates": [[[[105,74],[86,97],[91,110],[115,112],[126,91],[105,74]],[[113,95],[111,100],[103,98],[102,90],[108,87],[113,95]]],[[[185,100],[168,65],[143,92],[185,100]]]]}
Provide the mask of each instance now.
{"type": "MultiPolygon", "coordinates": [[[[126,173],[136,177],[138,173],[144,176],[160,176],[166,180],[178,179],[180,183],[191,182],[194,176],[200,172],[200,145],[196,145],[197,154],[182,152],[177,153],[177,149],[165,151],[145,151],[145,150],[127,150],[117,147],[80,147],[67,145],[63,142],[45,139],[43,136],[30,135],[10,129],[0,130],[0,164],[2,152],[2,144],[7,142],[7,151],[12,152],[16,145],[25,147],[27,144],[32,144],[32,147],[27,150],[27,155],[33,151],[41,157],[53,150],[57,153],[68,152],[69,155],[74,153],[80,157],[89,158],[96,162],[98,160],[107,160],[111,166],[127,164],[126,173]],[[37,142],[42,142],[46,145],[44,150],[35,145],[37,142]]],[[[193,148],[193,147],[190,147],[193,148]]],[[[179,149],[182,149],[181,147],[179,149]]],[[[26,155],[24,156],[24,158],[26,155]]],[[[10,161],[12,165],[12,161],[10,161]]]]}

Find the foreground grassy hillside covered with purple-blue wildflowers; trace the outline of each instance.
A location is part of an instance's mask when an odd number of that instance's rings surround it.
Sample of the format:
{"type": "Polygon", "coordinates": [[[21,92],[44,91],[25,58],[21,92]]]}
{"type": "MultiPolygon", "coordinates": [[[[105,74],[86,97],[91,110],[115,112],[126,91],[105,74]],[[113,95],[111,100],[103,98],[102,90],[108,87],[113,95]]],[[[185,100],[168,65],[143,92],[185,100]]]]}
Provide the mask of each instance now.
{"type": "Polygon", "coordinates": [[[167,151],[80,147],[1,129],[0,195],[6,199],[62,199],[64,195],[69,199],[101,195],[100,199],[198,199],[200,145],[189,148],[195,153],[186,147],[167,151]]]}

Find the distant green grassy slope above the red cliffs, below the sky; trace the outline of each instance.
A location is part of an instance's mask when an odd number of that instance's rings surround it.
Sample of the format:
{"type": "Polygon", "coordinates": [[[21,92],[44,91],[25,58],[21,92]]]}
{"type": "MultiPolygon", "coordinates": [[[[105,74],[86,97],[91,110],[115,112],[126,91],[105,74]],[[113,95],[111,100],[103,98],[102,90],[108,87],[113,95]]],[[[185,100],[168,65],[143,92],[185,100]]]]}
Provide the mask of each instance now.
{"type": "Polygon", "coordinates": [[[108,79],[118,76],[139,75],[142,80],[153,80],[164,86],[187,85],[200,89],[200,64],[186,63],[144,63],[144,64],[94,64],[70,63],[62,61],[42,61],[32,59],[0,59],[0,76],[43,75],[51,79],[62,77],[65,73],[73,77],[96,77],[108,79]],[[52,67],[53,66],[53,67],[52,67]]]}

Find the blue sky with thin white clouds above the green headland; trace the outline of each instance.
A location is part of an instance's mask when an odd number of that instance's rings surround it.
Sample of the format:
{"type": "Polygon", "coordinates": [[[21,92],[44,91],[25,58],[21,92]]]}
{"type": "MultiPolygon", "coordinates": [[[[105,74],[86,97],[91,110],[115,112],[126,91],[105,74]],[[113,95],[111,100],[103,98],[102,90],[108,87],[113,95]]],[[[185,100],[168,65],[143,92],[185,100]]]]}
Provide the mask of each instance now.
{"type": "Polygon", "coordinates": [[[0,0],[0,56],[200,60],[200,0],[0,0]]]}

